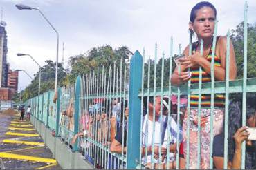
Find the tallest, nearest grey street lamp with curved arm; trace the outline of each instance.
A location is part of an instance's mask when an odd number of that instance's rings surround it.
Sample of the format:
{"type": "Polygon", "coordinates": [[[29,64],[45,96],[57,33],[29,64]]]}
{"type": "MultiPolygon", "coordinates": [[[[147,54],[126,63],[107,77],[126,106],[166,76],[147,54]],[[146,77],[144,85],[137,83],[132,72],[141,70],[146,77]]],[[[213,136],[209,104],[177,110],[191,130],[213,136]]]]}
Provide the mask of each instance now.
{"type": "Polygon", "coordinates": [[[57,30],[53,27],[53,25],[48,21],[48,19],[44,16],[44,14],[38,9],[38,8],[33,8],[30,6],[25,6],[23,4],[17,4],[15,5],[19,10],[37,10],[44,19],[47,21],[47,23],[53,28],[54,32],[57,34],[57,53],[56,53],[56,70],[55,70],[55,92],[57,92],[57,70],[58,70],[58,61],[59,61],[59,33],[57,30]]]}

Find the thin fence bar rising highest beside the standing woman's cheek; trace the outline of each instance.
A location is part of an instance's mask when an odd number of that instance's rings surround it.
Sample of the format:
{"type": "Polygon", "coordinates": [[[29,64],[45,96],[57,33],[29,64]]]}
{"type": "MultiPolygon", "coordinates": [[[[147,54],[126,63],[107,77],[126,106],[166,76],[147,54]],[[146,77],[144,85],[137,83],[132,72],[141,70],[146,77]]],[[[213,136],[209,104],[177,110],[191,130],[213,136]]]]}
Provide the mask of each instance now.
{"type": "Polygon", "coordinates": [[[213,150],[213,119],[214,119],[214,83],[215,83],[215,76],[214,76],[214,59],[215,59],[215,48],[216,48],[216,41],[217,41],[217,26],[218,21],[215,20],[214,25],[214,34],[213,34],[213,46],[212,46],[212,60],[211,60],[211,94],[210,94],[210,169],[213,168],[213,160],[212,160],[212,150],[213,150]]]}

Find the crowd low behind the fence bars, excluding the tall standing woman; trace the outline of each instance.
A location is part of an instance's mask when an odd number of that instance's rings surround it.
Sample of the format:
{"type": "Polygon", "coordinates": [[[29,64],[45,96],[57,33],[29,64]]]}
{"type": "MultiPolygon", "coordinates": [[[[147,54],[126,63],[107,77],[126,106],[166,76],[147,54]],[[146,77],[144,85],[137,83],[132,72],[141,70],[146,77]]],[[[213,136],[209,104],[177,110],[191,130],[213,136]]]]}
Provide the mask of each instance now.
{"type": "MultiPolygon", "coordinates": [[[[185,169],[183,120],[187,102],[187,96],[181,96],[180,122],[177,123],[177,96],[172,95],[170,98],[163,96],[162,101],[161,96],[155,96],[155,100],[154,96],[143,98],[141,155],[142,164],[146,168],[176,169],[176,144],[179,141],[179,168],[185,169]],[[171,110],[169,110],[170,108],[171,110]],[[159,153],[159,147],[161,147],[161,153],[159,153]],[[167,148],[169,151],[167,151],[167,148]],[[169,153],[168,156],[167,153],[169,153]],[[167,167],[167,164],[169,167],[167,167]]],[[[241,143],[248,137],[247,132],[244,133],[247,127],[241,127],[241,102],[230,102],[229,113],[228,160],[230,167],[234,166],[231,165],[232,162],[236,162],[240,166],[241,143]]],[[[99,146],[108,148],[111,153],[118,153],[120,156],[122,154],[126,155],[128,116],[127,100],[118,98],[113,100],[102,99],[99,102],[95,102],[80,117],[80,133],[75,134],[72,143],[75,143],[77,138],[80,137],[80,140],[78,140],[80,151],[82,151],[86,160],[89,160],[91,164],[95,164],[98,169],[106,167],[107,169],[121,169],[122,166],[125,168],[125,162],[122,162],[118,156],[108,154],[107,150],[99,146]],[[93,144],[89,139],[99,142],[98,145],[93,144]]],[[[249,103],[246,125],[255,127],[255,118],[254,105],[249,103]]],[[[197,126],[192,117],[190,118],[190,123],[197,126]]],[[[205,120],[202,119],[201,125],[203,126],[204,124],[205,120]]],[[[217,169],[223,168],[223,137],[223,132],[221,132],[221,134],[214,136],[213,141],[212,158],[214,167],[217,169]]],[[[210,141],[208,145],[210,145],[210,141]]],[[[255,168],[255,148],[256,142],[254,140],[246,140],[246,168],[255,168]]]]}

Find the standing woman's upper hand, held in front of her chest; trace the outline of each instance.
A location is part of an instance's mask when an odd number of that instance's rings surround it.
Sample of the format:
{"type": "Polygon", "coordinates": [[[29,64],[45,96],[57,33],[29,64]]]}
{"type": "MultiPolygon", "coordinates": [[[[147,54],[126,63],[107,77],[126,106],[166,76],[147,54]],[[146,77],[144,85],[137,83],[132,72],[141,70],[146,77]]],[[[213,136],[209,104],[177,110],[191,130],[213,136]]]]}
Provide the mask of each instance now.
{"type": "Polygon", "coordinates": [[[181,65],[185,65],[185,68],[187,69],[190,67],[199,66],[201,59],[204,59],[203,56],[199,52],[196,52],[191,56],[185,56],[179,59],[179,63],[181,63],[181,65]]]}

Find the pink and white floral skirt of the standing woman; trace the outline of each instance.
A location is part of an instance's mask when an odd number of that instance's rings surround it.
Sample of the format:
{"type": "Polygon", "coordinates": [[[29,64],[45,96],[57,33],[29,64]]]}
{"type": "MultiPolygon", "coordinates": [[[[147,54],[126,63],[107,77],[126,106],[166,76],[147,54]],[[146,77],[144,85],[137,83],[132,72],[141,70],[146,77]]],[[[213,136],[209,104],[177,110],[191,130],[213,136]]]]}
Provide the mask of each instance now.
{"type": "MultiPolygon", "coordinates": [[[[224,109],[214,109],[213,133],[214,136],[221,134],[223,131],[224,109]]],[[[190,110],[190,169],[197,168],[197,149],[201,147],[200,169],[210,169],[210,109],[201,109],[201,145],[198,146],[198,109],[190,110]]],[[[183,151],[184,157],[187,156],[187,120],[186,111],[183,120],[183,151]]]]}

